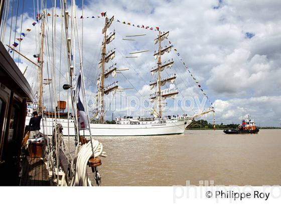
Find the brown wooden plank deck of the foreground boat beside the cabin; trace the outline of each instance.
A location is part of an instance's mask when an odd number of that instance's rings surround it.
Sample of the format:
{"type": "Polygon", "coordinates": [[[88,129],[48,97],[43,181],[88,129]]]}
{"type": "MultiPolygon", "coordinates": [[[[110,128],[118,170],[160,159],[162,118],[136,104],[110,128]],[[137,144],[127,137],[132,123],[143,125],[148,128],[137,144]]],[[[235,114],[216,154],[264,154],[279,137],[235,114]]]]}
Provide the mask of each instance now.
{"type": "Polygon", "coordinates": [[[49,173],[42,158],[27,156],[22,167],[21,186],[50,186],[49,173]]]}

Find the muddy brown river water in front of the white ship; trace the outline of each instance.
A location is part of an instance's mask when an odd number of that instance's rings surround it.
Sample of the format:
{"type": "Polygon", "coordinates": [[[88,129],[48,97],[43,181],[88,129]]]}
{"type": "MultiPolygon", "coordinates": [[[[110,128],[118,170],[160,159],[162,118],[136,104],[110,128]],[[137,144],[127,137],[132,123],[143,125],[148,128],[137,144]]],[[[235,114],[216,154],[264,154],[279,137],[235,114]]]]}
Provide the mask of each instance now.
{"type": "Polygon", "coordinates": [[[200,185],[200,180],[214,185],[281,185],[281,129],[95,139],[108,155],[101,157],[99,166],[103,186],[186,185],[187,180],[192,185],[200,185]]]}

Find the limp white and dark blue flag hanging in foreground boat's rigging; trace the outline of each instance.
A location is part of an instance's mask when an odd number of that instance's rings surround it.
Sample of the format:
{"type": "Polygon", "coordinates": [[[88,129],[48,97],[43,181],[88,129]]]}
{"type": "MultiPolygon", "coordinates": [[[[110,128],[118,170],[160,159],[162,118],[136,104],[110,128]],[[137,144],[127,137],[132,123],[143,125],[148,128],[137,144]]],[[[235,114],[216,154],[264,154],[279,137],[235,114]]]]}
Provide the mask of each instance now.
{"type": "Polygon", "coordinates": [[[89,129],[89,124],[88,124],[88,116],[87,113],[85,112],[85,98],[84,98],[84,93],[83,93],[83,83],[81,80],[81,74],[79,74],[79,77],[77,79],[76,83],[76,94],[77,94],[77,115],[78,115],[78,129],[83,130],[83,129],[89,129]]]}

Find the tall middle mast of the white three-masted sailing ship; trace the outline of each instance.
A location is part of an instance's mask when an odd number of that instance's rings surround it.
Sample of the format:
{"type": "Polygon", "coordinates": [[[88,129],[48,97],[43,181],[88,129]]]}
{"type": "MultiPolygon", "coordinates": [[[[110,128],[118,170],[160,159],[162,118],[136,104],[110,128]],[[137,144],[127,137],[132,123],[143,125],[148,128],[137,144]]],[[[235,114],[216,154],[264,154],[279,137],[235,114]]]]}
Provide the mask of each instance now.
{"type": "Polygon", "coordinates": [[[99,117],[99,122],[104,122],[104,64],[105,64],[105,55],[106,55],[106,30],[107,30],[107,17],[105,17],[105,25],[104,25],[104,43],[102,48],[102,64],[101,64],[101,84],[100,84],[100,92],[101,92],[101,115],[99,117]]]}

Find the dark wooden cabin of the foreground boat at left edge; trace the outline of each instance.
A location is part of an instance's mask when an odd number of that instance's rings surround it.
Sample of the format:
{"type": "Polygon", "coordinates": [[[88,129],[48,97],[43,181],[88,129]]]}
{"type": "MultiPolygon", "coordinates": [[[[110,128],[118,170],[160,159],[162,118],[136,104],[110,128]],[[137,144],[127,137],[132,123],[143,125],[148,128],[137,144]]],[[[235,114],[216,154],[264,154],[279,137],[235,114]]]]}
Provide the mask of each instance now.
{"type": "Polygon", "coordinates": [[[0,185],[18,185],[27,102],[33,92],[0,42],[0,185]]]}

